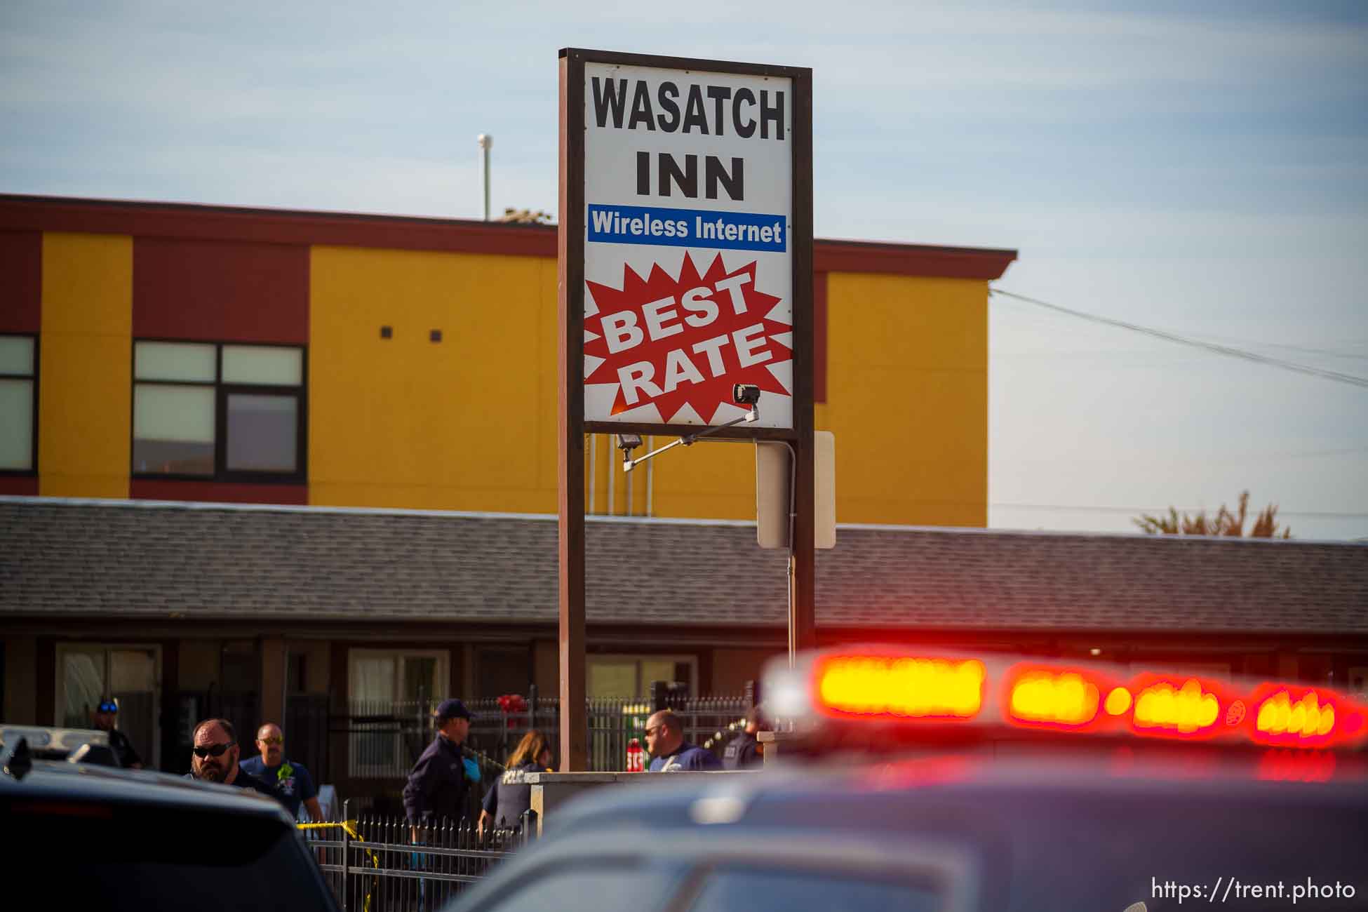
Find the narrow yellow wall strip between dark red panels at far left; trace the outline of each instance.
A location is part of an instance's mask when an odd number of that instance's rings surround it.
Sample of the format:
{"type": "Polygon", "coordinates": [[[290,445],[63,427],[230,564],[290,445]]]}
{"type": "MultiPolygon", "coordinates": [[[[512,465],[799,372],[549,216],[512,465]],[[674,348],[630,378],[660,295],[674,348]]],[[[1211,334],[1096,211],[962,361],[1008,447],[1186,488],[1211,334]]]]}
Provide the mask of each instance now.
{"type": "Polygon", "coordinates": [[[38,494],[127,498],[133,238],[42,235],[38,494]]]}

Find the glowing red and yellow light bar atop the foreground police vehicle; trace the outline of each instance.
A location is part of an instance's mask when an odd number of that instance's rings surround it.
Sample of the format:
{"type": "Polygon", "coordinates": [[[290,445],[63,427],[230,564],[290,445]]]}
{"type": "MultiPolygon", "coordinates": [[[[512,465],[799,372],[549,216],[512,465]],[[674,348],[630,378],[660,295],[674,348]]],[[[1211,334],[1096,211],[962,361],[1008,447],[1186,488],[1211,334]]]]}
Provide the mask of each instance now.
{"type": "Polygon", "coordinates": [[[769,712],[800,732],[848,722],[1316,749],[1368,741],[1368,710],[1327,688],[1090,662],[828,649],[799,655],[792,669],[772,662],[765,692],[769,712]]]}

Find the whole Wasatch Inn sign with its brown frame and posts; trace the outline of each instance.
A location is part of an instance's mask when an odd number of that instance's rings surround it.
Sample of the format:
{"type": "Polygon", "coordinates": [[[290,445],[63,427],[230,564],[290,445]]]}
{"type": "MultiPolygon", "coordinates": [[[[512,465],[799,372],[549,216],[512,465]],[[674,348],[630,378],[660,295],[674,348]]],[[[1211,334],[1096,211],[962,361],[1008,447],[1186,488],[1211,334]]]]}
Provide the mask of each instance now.
{"type": "Polygon", "coordinates": [[[561,755],[583,770],[586,432],[789,442],[789,639],[814,645],[813,104],[799,67],[568,48],[560,79],[561,755]]]}

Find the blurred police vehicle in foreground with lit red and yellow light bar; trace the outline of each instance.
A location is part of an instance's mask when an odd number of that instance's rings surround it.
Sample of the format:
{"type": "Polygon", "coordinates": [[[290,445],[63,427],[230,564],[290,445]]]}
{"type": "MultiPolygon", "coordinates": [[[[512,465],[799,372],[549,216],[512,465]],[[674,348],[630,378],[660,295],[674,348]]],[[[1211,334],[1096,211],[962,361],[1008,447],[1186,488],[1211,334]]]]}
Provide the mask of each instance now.
{"type": "Polygon", "coordinates": [[[1368,716],[1323,688],[876,649],[766,695],[763,771],[557,808],[450,912],[1368,908],[1368,716]]]}

